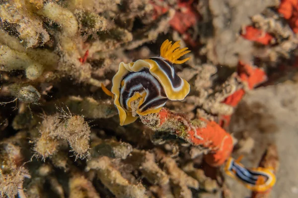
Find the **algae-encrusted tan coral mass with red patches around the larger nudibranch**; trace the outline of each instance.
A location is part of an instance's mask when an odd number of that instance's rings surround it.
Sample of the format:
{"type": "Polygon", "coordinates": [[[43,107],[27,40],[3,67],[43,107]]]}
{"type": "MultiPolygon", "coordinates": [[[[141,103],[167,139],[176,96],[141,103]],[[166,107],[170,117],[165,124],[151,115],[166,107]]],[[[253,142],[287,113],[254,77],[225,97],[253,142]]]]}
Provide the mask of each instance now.
{"type": "Polygon", "coordinates": [[[265,107],[240,100],[295,81],[284,5],[0,0],[0,197],[229,197],[221,165],[246,152],[257,166],[277,130],[265,107]],[[191,50],[175,66],[188,96],[147,115],[134,100],[140,119],[120,126],[101,85],[111,90],[120,62],[158,56],[167,39],[191,50]]]}

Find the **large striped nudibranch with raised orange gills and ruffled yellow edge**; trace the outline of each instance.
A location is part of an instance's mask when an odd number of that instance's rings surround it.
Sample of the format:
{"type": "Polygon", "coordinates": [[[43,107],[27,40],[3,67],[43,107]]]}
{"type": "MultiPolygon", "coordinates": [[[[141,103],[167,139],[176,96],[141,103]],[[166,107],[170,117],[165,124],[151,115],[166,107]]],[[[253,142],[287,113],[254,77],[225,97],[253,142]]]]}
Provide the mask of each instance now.
{"type": "Polygon", "coordinates": [[[131,108],[131,102],[136,99],[140,99],[137,113],[147,115],[159,112],[167,100],[183,100],[189,94],[189,83],[176,74],[173,65],[190,59],[178,60],[190,52],[188,48],[180,49],[179,42],[164,41],[159,57],[128,64],[121,62],[113,77],[111,92],[102,86],[103,91],[114,98],[121,126],[136,121],[131,108]]]}

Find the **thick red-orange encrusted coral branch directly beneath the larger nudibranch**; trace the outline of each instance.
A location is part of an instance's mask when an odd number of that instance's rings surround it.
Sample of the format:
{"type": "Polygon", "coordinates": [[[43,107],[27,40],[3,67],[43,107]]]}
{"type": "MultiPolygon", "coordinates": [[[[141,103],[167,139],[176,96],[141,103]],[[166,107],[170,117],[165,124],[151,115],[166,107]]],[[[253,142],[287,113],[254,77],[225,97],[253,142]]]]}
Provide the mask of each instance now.
{"type": "Polygon", "coordinates": [[[205,155],[205,160],[211,166],[222,165],[232,151],[232,137],[214,121],[189,121],[183,115],[166,108],[140,118],[154,131],[169,132],[194,146],[209,148],[211,151],[205,155]]]}

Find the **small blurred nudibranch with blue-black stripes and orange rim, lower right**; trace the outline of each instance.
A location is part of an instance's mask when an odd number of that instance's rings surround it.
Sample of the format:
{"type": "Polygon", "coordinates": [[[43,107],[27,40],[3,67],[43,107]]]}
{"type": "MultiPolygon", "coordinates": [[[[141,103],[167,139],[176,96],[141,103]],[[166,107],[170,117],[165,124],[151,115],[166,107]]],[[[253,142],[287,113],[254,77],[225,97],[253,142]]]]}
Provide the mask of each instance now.
{"type": "Polygon", "coordinates": [[[276,182],[276,176],[270,168],[245,168],[239,159],[229,157],[225,167],[225,173],[241,182],[247,189],[255,192],[266,192],[276,182]]]}

